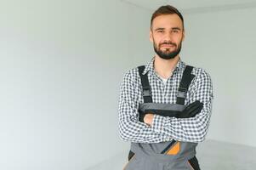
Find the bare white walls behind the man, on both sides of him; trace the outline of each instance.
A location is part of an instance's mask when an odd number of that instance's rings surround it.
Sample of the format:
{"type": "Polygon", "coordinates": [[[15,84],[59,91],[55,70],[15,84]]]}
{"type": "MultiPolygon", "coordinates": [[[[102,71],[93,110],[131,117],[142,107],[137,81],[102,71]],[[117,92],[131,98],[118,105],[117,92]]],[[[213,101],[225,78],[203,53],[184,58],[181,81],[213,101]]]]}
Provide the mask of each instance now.
{"type": "MultiPolygon", "coordinates": [[[[0,11],[0,169],[87,169],[128,150],[119,85],[151,59],[151,11],[119,0],[9,0],[0,11]]],[[[256,146],[255,14],[185,14],[182,59],[213,78],[208,139],[256,146]]]]}

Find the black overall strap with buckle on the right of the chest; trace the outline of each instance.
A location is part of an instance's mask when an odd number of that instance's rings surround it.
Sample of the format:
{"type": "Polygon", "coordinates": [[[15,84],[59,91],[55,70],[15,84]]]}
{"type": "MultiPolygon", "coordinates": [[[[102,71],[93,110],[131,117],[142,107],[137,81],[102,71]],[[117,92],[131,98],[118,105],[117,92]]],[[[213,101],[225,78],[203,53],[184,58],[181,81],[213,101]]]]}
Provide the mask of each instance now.
{"type": "Polygon", "coordinates": [[[185,66],[185,71],[183,72],[181,81],[179,82],[179,89],[177,95],[177,102],[176,104],[184,105],[185,104],[185,96],[188,91],[188,88],[191,84],[191,81],[195,77],[195,75],[191,74],[193,67],[191,65],[185,66]]]}

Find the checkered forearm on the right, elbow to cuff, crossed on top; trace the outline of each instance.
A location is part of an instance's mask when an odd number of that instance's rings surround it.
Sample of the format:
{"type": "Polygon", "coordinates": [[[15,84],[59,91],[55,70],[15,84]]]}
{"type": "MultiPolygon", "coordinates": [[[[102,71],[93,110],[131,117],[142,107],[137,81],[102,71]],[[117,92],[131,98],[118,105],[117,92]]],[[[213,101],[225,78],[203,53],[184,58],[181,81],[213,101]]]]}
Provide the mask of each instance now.
{"type": "Polygon", "coordinates": [[[201,113],[191,118],[177,119],[155,115],[151,126],[152,130],[179,141],[202,142],[208,133],[212,110],[211,103],[212,101],[209,101],[201,113]]]}

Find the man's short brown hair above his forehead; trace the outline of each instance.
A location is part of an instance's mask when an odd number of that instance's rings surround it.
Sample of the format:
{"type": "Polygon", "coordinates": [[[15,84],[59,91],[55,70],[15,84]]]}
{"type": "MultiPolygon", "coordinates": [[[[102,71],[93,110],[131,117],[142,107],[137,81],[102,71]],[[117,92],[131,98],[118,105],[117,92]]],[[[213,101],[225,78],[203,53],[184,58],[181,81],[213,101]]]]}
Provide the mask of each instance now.
{"type": "Polygon", "coordinates": [[[157,16],[160,16],[162,14],[177,14],[179,16],[180,20],[182,20],[182,26],[183,26],[183,29],[184,29],[184,20],[183,20],[182,14],[179,13],[179,10],[177,8],[175,8],[171,5],[161,6],[161,7],[156,9],[156,11],[151,16],[151,26],[152,26],[153,20],[157,16]]]}

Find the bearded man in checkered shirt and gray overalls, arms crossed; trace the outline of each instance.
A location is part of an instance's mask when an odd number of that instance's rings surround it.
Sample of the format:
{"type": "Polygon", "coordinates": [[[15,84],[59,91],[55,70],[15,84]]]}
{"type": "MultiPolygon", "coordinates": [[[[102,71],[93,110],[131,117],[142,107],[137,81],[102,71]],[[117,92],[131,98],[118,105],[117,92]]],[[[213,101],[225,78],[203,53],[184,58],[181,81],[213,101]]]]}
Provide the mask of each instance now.
{"type": "Polygon", "coordinates": [[[180,59],[184,38],[176,8],[152,14],[156,54],[148,65],[129,70],[121,84],[120,136],[131,142],[125,170],[200,169],[196,145],[208,132],[213,86],[206,71],[180,59]]]}

